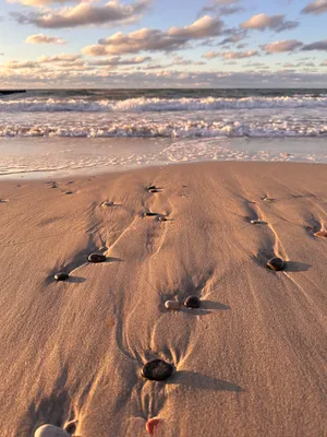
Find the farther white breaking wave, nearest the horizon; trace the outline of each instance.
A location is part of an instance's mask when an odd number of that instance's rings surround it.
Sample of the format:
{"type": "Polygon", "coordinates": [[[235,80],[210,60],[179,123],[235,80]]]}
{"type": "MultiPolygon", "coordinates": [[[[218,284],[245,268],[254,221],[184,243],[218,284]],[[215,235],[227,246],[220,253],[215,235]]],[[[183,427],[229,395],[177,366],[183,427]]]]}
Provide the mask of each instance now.
{"type": "Polygon", "coordinates": [[[147,113],[261,108],[326,108],[327,95],[244,97],[244,98],[128,98],[124,101],[87,98],[5,98],[0,113],[147,113]]]}

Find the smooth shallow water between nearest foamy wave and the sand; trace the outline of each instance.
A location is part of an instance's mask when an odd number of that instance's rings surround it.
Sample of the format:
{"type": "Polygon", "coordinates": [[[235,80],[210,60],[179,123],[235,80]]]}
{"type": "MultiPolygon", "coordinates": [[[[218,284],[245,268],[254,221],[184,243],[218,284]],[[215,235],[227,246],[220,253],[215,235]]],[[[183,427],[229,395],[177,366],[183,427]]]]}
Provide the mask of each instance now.
{"type": "Polygon", "coordinates": [[[327,163],[327,142],[299,138],[0,140],[1,178],[90,175],[201,161],[327,163]]]}

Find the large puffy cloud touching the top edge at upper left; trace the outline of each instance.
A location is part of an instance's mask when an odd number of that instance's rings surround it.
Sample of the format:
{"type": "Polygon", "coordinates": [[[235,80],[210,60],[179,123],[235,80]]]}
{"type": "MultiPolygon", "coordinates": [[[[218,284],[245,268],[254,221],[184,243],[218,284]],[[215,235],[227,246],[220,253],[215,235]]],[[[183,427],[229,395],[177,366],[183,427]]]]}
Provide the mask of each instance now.
{"type": "Polygon", "coordinates": [[[33,24],[43,28],[77,27],[85,25],[126,25],[134,23],[147,11],[150,0],[136,0],[121,4],[119,0],[109,0],[105,5],[81,2],[59,11],[12,12],[20,24],[33,24]]]}

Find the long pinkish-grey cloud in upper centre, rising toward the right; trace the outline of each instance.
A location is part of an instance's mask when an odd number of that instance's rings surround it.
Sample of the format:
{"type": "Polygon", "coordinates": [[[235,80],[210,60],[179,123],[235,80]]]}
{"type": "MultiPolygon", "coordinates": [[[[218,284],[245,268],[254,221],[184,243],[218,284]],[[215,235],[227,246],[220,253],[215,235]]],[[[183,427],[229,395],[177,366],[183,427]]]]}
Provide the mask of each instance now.
{"type": "Polygon", "coordinates": [[[98,44],[83,48],[87,56],[136,54],[140,51],[171,51],[186,47],[194,39],[218,36],[223,23],[219,17],[205,15],[185,27],[170,27],[167,32],[141,28],[130,34],[118,32],[98,44]]]}

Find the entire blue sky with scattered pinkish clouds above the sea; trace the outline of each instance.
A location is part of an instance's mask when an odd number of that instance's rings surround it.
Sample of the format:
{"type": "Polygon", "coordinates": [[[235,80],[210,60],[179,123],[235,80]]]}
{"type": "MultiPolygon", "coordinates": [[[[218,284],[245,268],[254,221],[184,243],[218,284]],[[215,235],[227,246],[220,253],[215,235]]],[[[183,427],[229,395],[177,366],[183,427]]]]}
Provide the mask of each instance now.
{"type": "Polygon", "coordinates": [[[327,0],[0,4],[0,88],[327,87],[327,0]]]}

